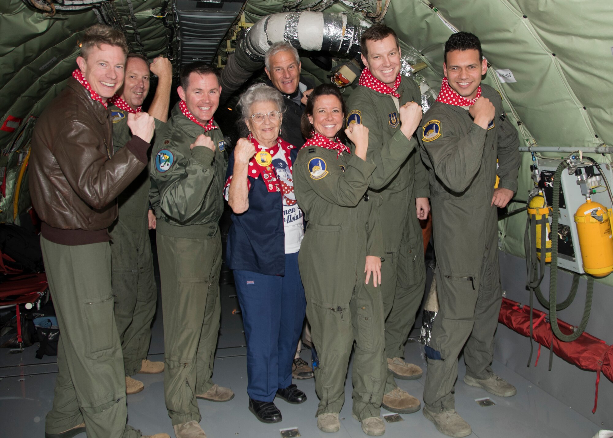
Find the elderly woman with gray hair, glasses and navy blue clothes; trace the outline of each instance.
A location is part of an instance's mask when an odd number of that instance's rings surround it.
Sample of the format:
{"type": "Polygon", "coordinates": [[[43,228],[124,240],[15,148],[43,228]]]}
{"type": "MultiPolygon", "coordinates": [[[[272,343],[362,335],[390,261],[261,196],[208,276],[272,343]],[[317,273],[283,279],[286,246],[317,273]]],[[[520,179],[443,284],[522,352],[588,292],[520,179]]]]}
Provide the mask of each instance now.
{"type": "Polygon", "coordinates": [[[298,252],[304,235],[292,163],[298,148],[280,137],[284,98],[264,84],[238,101],[249,131],[230,157],[224,196],[232,208],[227,264],[234,271],[247,340],[249,410],[278,423],[276,396],[302,403],[292,385],[292,361],[305,316],[298,252]]]}

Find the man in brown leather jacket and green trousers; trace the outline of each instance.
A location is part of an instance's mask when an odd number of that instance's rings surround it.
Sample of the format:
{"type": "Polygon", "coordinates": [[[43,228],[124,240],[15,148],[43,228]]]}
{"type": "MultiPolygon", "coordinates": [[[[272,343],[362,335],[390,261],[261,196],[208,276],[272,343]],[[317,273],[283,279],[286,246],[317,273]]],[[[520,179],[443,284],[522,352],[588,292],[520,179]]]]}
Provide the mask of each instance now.
{"type": "MultiPolygon", "coordinates": [[[[93,26],[78,69],[40,115],[29,183],[42,220],[40,246],[61,337],[46,438],[140,437],[126,425],[126,384],[113,317],[109,234],[115,198],[147,164],[153,117],[130,114],[132,140],[113,153],[107,98],[120,88],[126,39],[93,26]]],[[[169,437],[167,434],[156,435],[169,437]]]]}

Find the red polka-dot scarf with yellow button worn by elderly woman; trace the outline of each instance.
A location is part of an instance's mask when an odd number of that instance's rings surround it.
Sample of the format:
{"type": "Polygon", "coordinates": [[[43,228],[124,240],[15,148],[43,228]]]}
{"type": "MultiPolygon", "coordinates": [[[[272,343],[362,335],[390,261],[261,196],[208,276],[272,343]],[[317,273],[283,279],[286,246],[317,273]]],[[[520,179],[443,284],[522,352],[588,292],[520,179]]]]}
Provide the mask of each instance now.
{"type": "MultiPolygon", "coordinates": [[[[292,159],[289,154],[295,146],[287,143],[285,140],[279,137],[276,145],[267,149],[262,147],[253,137],[253,135],[249,134],[247,138],[256,147],[256,155],[254,155],[249,161],[247,176],[253,179],[258,179],[261,176],[262,180],[264,180],[264,183],[266,184],[266,190],[268,190],[270,193],[282,191],[284,194],[287,194],[290,190],[293,191],[293,186],[289,186],[287,183],[282,182],[276,175],[275,166],[272,164],[272,159],[280,149],[283,150],[287,167],[289,167],[288,173],[291,174],[292,159]]],[[[230,186],[231,181],[232,175],[230,175],[230,177],[227,179],[226,185],[224,186],[224,191],[226,191],[226,188],[230,186]]],[[[291,179],[289,182],[291,182],[291,179]]],[[[248,190],[251,189],[251,181],[249,181],[249,179],[247,179],[247,188],[248,190]]]]}

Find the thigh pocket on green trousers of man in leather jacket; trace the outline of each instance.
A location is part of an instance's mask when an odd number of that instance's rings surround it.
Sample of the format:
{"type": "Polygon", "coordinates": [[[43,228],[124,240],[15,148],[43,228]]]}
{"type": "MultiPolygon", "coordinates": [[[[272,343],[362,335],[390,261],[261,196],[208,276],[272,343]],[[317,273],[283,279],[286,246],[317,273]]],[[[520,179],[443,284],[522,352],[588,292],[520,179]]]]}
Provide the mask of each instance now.
{"type": "Polygon", "coordinates": [[[99,353],[115,347],[119,338],[115,334],[115,319],[113,318],[113,296],[86,299],[82,304],[83,317],[86,324],[86,352],[95,359],[99,353]],[[115,339],[117,337],[117,339],[115,339]]]}

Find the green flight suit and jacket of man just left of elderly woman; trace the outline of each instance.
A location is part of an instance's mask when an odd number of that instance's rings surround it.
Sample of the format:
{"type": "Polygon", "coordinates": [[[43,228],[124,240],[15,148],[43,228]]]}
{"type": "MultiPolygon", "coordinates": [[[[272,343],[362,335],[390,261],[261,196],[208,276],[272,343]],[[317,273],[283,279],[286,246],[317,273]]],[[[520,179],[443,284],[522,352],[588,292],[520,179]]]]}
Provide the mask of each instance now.
{"type": "MultiPolygon", "coordinates": [[[[217,126],[217,125],[215,125],[217,126]]],[[[173,425],[200,421],[196,394],[213,382],[219,331],[219,271],[227,153],[219,128],[207,133],[175,106],[151,154],[151,204],[164,309],[164,397],[173,425]],[[215,144],[189,145],[200,134],[215,144]]]]}

